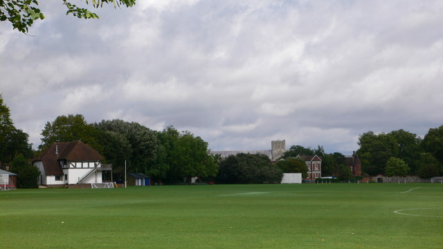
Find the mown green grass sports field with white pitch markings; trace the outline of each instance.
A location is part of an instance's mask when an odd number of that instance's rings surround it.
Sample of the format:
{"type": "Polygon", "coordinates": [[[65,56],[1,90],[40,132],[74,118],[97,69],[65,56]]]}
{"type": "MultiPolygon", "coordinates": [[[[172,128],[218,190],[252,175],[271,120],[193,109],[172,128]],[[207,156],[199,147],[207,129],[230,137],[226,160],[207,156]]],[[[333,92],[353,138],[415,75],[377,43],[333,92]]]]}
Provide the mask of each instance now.
{"type": "Polygon", "coordinates": [[[0,248],[443,248],[443,185],[17,190],[0,225],[0,248]]]}

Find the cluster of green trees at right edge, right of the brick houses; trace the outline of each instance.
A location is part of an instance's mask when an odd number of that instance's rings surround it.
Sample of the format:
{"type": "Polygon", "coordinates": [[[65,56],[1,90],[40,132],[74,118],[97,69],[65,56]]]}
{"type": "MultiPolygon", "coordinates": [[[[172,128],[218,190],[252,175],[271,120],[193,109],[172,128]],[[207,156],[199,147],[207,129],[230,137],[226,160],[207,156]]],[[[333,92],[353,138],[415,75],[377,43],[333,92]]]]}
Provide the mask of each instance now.
{"type": "Polygon", "coordinates": [[[424,138],[404,129],[379,134],[368,131],[358,144],[362,170],[370,175],[431,178],[443,173],[443,125],[429,129],[424,138]]]}

